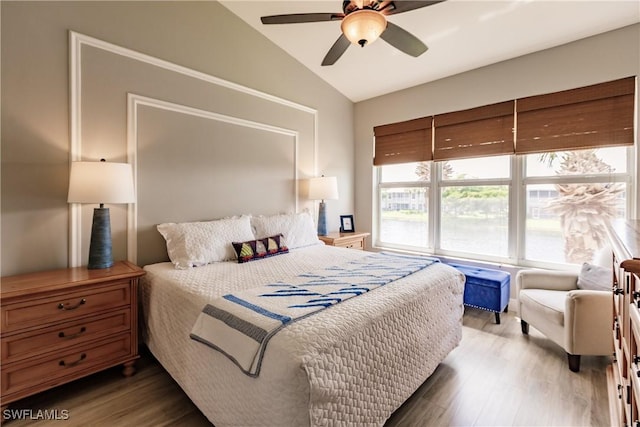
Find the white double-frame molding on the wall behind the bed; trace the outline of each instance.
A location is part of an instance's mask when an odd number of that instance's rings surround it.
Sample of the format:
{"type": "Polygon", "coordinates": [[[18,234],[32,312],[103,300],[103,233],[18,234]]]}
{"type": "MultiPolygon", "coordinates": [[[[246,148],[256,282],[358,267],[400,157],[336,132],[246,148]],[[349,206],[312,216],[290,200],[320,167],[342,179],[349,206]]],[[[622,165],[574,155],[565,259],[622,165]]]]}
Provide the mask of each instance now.
{"type": "MultiPolygon", "coordinates": [[[[83,118],[87,119],[87,111],[83,111],[83,104],[86,104],[86,99],[83,99],[83,96],[87,96],[83,93],[83,84],[85,83],[86,76],[83,75],[83,70],[85,69],[85,65],[83,63],[83,49],[85,48],[93,48],[98,49],[100,51],[104,51],[110,54],[115,54],[120,57],[124,57],[130,60],[134,60],[139,63],[143,63],[146,65],[150,65],[152,67],[157,68],[158,70],[169,71],[170,73],[175,73],[177,75],[188,77],[192,79],[196,79],[197,81],[204,83],[206,85],[211,85],[212,87],[220,87],[231,90],[233,92],[248,95],[251,99],[256,99],[260,101],[266,101],[267,103],[271,103],[275,106],[285,107],[287,109],[291,109],[293,111],[297,111],[298,113],[302,113],[304,115],[308,115],[310,118],[310,128],[309,128],[309,137],[310,140],[307,144],[310,144],[308,151],[305,151],[305,162],[310,164],[311,173],[313,175],[317,174],[317,158],[318,158],[318,111],[314,108],[310,108],[305,105],[298,104],[293,101],[289,101],[287,99],[283,99],[256,89],[252,89],[237,83],[233,83],[200,71],[196,71],[190,69],[188,67],[184,67],[182,65],[178,65],[160,58],[156,58],[141,52],[137,52],[122,46],[118,46],[91,36],[87,36],[81,33],[77,33],[74,31],[69,32],[69,87],[70,87],[70,156],[69,161],[79,161],[83,160],[83,118]],[[310,158],[308,158],[310,157],[310,158]]],[[[251,128],[257,129],[259,131],[265,131],[269,133],[281,134],[287,137],[291,137],[294,140],[293,146],[293,156],[294,156],[294,165],[293,165],[293,178],[295,182],[295,209],[296,211],[299,208],[299,178],[304,178],[305,176],[299,176],[299,158],[298,156],[301,151],[301,147],[299,146],[301,142],[301,135],[299,129],[291,129],[283,126],[275,126],[268,123],[262,123],[256,120],[248,120],[245,118],[234,117],[232,115],[223,114],[217,111],[208,111],[206,109],[197,108],[194,106],[186,105],[188,102],[184,104],[170,102],[167,100],[162,100],[155,98],[153,94],[146,94],[147,96],[138,95],[134,91],[126,91],[127,101],[126,105],[123,103],[122,106],[122,116],[126,117],[126,153],[122,153],[123,157],[126,154],[127,162],[131,163],[134,169],[134,180],[137,180],[137,162],[139,160],[138,153],[138,110],[140,107],[151,107],[155,109],[175,112],[178,114],[185,114],[193,117],[199,117],[207,120],[213,120],[217,122],[229,123],[232,125],[240,126],[243,128],[251,128]],[[126,110],[126,111],[124,111],[126,110]]],[[[164,98],[163,98],[164,99],[164,98]]],[[[106,119],[105,119],[106,120],[106,119]]],[[[303,126],[303,125],[300,125],[303,126]]],[[[124,143],[124,141],[123,141],[124,143]]],[[[86,141],[85,141],[86,144],[86,141]]],[[[136,182],[137,189],[137,182],[136,182]]],[[[129,205],[127,211],[127,220],[126,220],[126,252],[127,258],[136,262],[137,259],[137,250],[138,250],[138,242],[136,230],[138,226],[138,206],[137,204],[129,205]]],[[[83,218],[85,218],[85,222],[87,221],[87,215],[83,215],[83,210],[81,205],[79,204],[70,204],[69,206],[69,265],[80,266],[84,263],[83,258],[83,248],[88,246],[88,236],[83,237],[83,229],[87,230],[86,224],[83,227],[83,218]]],[[[90,230],[90,227],[88,228],[90,230]]],[[[86,231],[85,231],[86,233],[86,231]]]]}

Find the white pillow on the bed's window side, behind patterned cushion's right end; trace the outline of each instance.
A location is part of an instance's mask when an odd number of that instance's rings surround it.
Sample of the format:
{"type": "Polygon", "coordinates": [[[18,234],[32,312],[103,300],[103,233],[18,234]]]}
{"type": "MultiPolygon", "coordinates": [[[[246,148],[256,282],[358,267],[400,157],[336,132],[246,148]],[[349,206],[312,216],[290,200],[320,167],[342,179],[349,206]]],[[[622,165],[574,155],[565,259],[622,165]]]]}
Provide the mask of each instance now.
{"type": "Polygon", "coordinates": [[[318,239],[313,218],[309,212],[281,214],[271,216],[253,216],[251,224],[255,228],[256,238],[282,234],[289,249],[321,244],[318,239]]]}

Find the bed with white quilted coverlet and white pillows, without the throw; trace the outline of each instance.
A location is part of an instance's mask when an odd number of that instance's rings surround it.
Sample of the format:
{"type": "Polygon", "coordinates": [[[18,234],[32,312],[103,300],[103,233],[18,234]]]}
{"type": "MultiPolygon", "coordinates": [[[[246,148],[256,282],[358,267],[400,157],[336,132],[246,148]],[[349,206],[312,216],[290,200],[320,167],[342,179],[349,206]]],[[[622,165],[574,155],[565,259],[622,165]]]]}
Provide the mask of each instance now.
{"type": "Polygon", "coordinates": [[[248,375],[190,336],[203,307],[371,253],[325,246],[308,214],[227,221],[235,222],[204,235],[159,226],[172,262],[146,265],[140,287],[145,343],[216,426],[382,425],[460,342],[464,277],[433,263],[291,322],[268,342],[259,373],[248,375]],[[231,241],[274,233],[286,242],[277,256],[238,262],[229,252],[231,241]],[[203,249],[212,239],[219,246],[203,249]],[[205,254],[185,255],[185,246],[205,254]]]}

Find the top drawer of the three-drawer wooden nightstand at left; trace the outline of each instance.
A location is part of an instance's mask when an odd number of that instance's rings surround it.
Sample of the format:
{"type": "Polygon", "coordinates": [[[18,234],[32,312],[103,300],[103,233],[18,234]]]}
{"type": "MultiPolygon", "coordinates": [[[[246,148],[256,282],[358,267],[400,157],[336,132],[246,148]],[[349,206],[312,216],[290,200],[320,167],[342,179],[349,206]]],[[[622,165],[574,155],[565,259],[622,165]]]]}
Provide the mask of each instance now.
{"type": "Polygon", "coordinates": [[[103,286],[9,303],[2,306],[2,334],[128,306],[130,302],[130,282],[120,280],[103,286]]]}

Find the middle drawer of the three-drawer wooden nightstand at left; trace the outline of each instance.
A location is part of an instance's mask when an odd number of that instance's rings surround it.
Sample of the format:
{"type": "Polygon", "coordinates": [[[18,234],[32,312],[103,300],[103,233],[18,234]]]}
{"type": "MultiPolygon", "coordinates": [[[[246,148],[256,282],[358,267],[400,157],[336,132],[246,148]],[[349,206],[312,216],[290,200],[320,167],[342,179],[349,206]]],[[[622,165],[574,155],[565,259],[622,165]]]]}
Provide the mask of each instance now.
{"type": "Polygon", "coordinates": [[[120,309],[60,325],[18,333],[2,338],[2,363],[25,357],[60,352],[67,347],[114,335],[131,329],[131,310],[120,309]]]}

